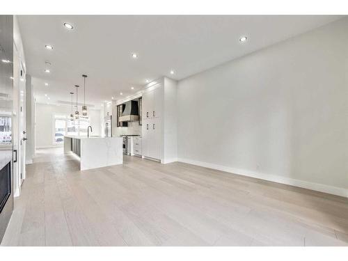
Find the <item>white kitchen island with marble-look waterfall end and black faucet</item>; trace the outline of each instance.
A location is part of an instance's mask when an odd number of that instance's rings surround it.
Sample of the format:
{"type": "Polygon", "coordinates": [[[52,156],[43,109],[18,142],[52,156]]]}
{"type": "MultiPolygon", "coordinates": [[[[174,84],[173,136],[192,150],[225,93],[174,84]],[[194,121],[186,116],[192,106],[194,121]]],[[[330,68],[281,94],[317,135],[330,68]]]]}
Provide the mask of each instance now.
{"type": "Polygon", "coordinates": [[[64,136],[64,153],[80,158],[80,170],[122,164],[122,138],[100,136],[64,136]]]}

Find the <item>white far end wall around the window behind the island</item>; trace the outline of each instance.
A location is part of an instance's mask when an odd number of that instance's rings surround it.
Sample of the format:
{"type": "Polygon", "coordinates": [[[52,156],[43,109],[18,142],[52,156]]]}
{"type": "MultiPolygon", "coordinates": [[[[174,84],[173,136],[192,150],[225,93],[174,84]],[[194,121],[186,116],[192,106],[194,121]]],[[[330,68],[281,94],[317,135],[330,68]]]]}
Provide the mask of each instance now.
{"type": "MultiPolygon", "coordinates": [[[[70,106],[58,106],[54,104],[36,104],[35,107],[35,147],[47,148],[53,145],[53,116],[54,114],[71,113],[70,106]]],[[[101,135],[100,110],[88,109],[90,125],[93,128],[91,135],[101,135]]]]}

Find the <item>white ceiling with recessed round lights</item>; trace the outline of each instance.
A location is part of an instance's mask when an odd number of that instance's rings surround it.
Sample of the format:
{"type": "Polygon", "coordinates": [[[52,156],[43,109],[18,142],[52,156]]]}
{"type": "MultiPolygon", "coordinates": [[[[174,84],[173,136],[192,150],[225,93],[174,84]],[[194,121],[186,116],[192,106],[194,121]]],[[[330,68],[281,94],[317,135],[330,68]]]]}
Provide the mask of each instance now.
{"type": "MultiPolygon", "coordinates": [[[[88,74],[86,103],[131,95],[145,79],[183,79],[322,26],[339,16],[20,15],[27,73],[38,102],[70,101],[88,74]],[[69,22],[74,30],[63,26],[69,22]],[[239,42],[246,35],[248,41],[239,42]],[[53,45],[53,50],[45,49],[53,45]],[[134,60],[131,54],[139,58],[134,60]],[[51,73],[44,72],[49,66],[51,73]],[[170,70],[175,70],[171,75],[170,70]],[[49,86],[45,86],[45,82],[49,86]],[[131,90],[134,86],[134,90],[131,90]],[[120,96],[120,92],[123,96],[120,96]],[[47,94],[51,100],[45,97],[47,94]]],[[[79,89],[79,102],[82,102],[79,89]]]]}

